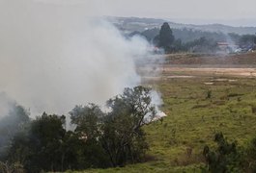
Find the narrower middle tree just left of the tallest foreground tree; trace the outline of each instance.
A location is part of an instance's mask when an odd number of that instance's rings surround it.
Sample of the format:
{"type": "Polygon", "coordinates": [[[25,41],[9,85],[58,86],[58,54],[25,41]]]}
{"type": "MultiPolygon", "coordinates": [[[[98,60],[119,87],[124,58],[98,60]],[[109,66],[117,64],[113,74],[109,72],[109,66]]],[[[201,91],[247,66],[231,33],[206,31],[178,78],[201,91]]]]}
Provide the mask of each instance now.
{"type": "Polygon", "coordinates": [[[82,141],[79,164],[86,168],[107,167],[110,162],[100,144],[103,112],[95,104],[76,106],[71,112],[71,123],[75,124],[75,135],[82,141]]]}

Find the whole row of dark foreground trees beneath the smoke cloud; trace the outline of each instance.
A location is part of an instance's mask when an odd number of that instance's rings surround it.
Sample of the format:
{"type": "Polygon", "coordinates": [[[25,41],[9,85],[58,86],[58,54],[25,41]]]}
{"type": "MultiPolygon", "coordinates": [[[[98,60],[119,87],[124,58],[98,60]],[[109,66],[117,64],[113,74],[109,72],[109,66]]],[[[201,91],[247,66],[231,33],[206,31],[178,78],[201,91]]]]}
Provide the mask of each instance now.
{"type": "Polygon", "coordinates": [[[31,120],[15,106],[1,120],[0,172],[82,170],[144,161],[148,143],[142,127],[156,116],[151,90],[126,88],[106,105],[106,112],[95,104],[76,106],[70,112],[73,131],[67,130],[65,115],[44,112],[31,120]]]}

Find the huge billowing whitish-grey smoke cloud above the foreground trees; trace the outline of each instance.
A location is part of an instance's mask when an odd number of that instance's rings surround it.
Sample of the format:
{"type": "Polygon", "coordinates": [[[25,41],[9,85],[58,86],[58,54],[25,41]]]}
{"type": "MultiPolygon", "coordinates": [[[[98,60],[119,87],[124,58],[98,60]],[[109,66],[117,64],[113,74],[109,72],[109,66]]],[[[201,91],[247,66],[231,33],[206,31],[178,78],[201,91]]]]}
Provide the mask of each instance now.
{"type": "Polygon", "coordinates": [[[140,84],[145,40],[92,17],[92,3],[49,2],[0,0],[0,91],[32,113],[67,113],[140,84]]]}

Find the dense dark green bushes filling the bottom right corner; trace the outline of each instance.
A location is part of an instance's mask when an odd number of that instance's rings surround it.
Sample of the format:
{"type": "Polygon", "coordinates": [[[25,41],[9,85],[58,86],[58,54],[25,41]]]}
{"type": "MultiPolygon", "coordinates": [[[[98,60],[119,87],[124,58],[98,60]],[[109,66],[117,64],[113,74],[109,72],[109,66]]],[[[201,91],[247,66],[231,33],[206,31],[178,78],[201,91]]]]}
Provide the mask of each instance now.
{"type": "Polygon", "coordinates": [[[202,172],[256,171],[256,138],[251,140],[246,149],[239,147],[237,142],[228,142],[222,133],[215,134],[214,142],[217,144],[216,148],[204,147],[206,166],[202,168],[202,172]]]}

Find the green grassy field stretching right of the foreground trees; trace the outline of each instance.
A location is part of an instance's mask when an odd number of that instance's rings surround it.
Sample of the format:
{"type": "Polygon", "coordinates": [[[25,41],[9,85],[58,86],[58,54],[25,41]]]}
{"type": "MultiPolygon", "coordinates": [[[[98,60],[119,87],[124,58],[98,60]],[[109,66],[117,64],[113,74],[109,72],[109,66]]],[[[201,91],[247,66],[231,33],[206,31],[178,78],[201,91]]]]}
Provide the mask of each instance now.
{"type": "Polygon", "coordinates": [[[145,127],[148,161],[84,172],[200,172],[203,147],[214,145],[213,135],[220,131],[246,147],[256,132],[256,81],[225,79],[165,79],[153,84],[162,93],[167,116],[145,127]],[[209,82],[213,85],[206,85],[209,82]]]}

